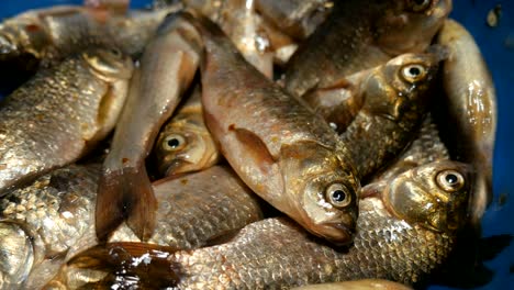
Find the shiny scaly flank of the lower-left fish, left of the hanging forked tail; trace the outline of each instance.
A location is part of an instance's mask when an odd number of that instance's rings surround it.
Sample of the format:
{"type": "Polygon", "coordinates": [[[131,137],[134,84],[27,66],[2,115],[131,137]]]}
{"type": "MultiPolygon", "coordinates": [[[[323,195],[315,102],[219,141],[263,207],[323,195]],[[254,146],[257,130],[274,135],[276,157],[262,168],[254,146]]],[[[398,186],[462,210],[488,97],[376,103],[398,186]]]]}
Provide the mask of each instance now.
{"type": "Polygon", "coordinates": [[[0,200],[0,216],[37,233],[46,255],[67,250],[90,226],[100,166],[54,170],[0,200]]]}

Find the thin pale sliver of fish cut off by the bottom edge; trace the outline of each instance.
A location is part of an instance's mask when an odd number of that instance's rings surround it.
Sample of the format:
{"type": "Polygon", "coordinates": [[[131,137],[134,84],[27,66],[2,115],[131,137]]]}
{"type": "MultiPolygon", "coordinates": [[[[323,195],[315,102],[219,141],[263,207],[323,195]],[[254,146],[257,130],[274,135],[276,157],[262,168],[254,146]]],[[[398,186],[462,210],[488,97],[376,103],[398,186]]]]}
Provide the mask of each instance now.
{"type": "Polygon", "coordinates": [[[291,290],[411,290],[413,288],[381,279],[362,279],[356,281],[310,285],[291,290]]]}

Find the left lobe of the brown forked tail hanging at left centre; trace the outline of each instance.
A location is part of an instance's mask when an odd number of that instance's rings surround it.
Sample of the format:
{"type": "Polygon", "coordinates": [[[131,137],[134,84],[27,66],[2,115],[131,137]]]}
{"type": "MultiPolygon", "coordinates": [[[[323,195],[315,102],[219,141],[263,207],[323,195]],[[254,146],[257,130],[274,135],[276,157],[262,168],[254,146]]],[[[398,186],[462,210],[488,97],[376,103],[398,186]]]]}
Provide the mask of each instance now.
{"type": "Polygon", "coordinates": [[[126,207],[124,201],[124,185],[120,182],[123,171],[104,172],[100,177],[97,191],[97,208],[94,228],[99,242],[107,242],[112,232],[124,221],[126,207]]]}

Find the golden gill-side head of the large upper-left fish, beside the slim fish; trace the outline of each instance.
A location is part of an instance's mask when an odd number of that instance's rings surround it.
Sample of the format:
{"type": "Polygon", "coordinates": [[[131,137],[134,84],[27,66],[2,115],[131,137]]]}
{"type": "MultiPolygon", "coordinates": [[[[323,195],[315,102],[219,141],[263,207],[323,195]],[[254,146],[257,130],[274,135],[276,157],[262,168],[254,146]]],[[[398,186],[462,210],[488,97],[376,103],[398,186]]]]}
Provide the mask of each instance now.
{"type": "Polygon", "coordinates": [[[127,80],[132,77],[134,69],[132,58],[115,47],[90,48],[82,52],[81,57],[91,72],[107,82],[127,80]]]}

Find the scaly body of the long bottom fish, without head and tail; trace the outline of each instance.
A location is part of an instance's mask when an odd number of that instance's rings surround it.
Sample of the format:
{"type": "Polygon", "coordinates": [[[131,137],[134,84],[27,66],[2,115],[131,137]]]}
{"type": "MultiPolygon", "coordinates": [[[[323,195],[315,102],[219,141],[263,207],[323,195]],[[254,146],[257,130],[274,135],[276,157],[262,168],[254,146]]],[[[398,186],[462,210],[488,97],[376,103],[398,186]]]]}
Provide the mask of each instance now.
{"type": "Polygon", "coordinates": [[[443,263],[452,238],[392,219],[375,198],[361,201],[349,249],[312,241],[286,219],[245,227],[232,242],[178,252],[178,289],[288,289],[293,286],[383,278],[413,283],[443,263]]]}

